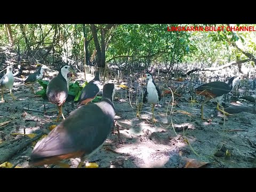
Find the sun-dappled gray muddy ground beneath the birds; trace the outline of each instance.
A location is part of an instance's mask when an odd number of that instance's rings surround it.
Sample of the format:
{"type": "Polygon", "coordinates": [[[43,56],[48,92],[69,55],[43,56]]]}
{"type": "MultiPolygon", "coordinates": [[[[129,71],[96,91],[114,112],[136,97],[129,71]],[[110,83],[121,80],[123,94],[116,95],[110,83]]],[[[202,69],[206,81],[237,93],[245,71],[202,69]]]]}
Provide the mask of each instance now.
{"type": "MultiPolygon", "coordinates": [[[[82,74],[79,78],[82,82],[82,74]]],[[[164,85],[163,82],[156,82],[159,86],[164,85]]],[[[37,83],[35,91],[40,89],[42,87],[37,83]]],[[[98,163],[99,167],[125,168],[200,167],[205,163],[205,167],[256,166],[255,114],[242,112],[223,118],[215,110],[216,103],[210,101],[205,104],[204,115],[211,121],[203,121],[200,109],[203,98],[197,97],[198,102],[191,103],[185,90],[182,97],[174,97],[173,108],[171,104],[168,105],[172,103],[171,94],[162,98],[160,106],[155,108],[158,122],[153,124],[145,119],[151,117],[148,104],[143,105],[142,119],[136,117],[136,89],[134,86],[133,96],[127,98],[129,91],[117,86],[114,101],[116,126],[103,147],[88,159],[89,162],[98,163]],[[118,139],[117,127],[121,139],[118,139]]],[[[29,167],[27,160],[33,150],[31,139],[11,133],[49,133],[48,128],[55,124],[51,119],[57,117],[58,111],[49,101],[35,97],[21,79],[15,79],[13,94],[18,101],[13,101],[10,94],[5,93],[6,102],[0,103],[0,123],[11,121],[0,126],[0,164],[8,161],[29,167]]],[[[239,104],[225,103],[227,106],[253,106],[249,101],[239,101],[239,104]]],[[[64,115],[67,116],[76,106],[76,103],[72,105],[66,102],[64,115]]],[[[66,162],[75,167],[78,164],[76,160],[66,162]]]]}

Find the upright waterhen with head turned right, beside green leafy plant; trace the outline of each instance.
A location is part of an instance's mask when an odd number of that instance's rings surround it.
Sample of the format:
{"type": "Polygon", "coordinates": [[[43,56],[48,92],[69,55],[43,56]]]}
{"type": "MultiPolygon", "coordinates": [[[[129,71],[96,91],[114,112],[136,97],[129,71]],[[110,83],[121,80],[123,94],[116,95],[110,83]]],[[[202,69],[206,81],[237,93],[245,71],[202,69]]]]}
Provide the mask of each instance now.
{"type": "Polygon", "coordinates": [[[60,114],[62,115],[63,119],[65,119],[62,113],[62,105],[68,97],[69,84],[67,76],[69,72],[74,73],[74,70],[67,65],[61,67],[57,77],[54,77],[49,82],[46,89],[46,95],[49,101],[58,106],[59,114],[56,119],[57,122],[59,121],[60,114]]]}

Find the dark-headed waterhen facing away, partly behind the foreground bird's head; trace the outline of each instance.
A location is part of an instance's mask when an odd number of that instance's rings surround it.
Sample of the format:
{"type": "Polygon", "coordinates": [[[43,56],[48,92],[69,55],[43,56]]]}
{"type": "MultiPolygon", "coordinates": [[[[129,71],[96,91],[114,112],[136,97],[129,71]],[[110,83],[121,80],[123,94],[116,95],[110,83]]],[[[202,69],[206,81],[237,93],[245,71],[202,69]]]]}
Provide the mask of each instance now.
{"type": "Polygon", "coordinates": [[[100,71],[95,72],[95,77],[82,90],[78,106],[86,105],[100,92],[100,71]]]}

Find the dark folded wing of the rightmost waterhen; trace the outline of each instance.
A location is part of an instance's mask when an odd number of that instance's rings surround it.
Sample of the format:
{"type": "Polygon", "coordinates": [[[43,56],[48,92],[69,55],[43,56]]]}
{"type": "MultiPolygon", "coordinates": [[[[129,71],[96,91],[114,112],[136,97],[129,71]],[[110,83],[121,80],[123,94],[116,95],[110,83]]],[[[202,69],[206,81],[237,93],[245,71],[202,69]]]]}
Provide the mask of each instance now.
{"type": "Polygon", "coordinates": [[[224,82],[210,82],[203,84],[196,88],[196,91],[202,91],[202,95],[204,95],[203,91],[211,92],[219,97],[223,94],[227,94],[231,91],[231,87],[224,82]]]}

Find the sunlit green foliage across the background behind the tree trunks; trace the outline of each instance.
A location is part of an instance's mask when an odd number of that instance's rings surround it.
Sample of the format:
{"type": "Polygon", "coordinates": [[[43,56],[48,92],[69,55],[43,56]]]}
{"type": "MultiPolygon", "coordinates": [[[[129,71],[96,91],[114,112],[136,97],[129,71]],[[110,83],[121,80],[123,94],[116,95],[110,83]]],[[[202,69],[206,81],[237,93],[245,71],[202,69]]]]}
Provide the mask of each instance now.
{"type": "MultiPolygon", "coordinates": [[[[29,47],[30,53],[36,59],[42,58],[49,49],[50,53],[54,50],[55,57],[58,56],[64,61],[65,59],[72,60],[83,65],[84,37],[89,41],[89,57],[95,50],[89,24],[85,24],[85,28],[83,28],[83,24],[23,24],[22,26],[20,24],[10,25],[14,39],[13,48],[17,49],[19,45],[22,53],[27,51],[29,47]],[[25,37],[28,42],[26,42],[25,37]]],[[[95,26],[99,42],[101,42],[100,29],[106,29],[107,24],[95,26]]],[[[170,67],[173,63],[186,62],[203,63],[210,67],[216,63],[222,65],[230,60],[246,59],[246,55],[234,47],[233,43],[239,45],[241,50],[246,50],[253,55],[256,54],[255,31],[167,31],[167,27],[178,26],[227,27],[226,24],[118,25],[113,30],[105,31],[107,63],[121,64],[125,62],[128,65],[129,63],[144,63],[150,67],[151,63],[157,62],[166,63],[166,67],[170,67]]],[[[253,25],[230,24],[230,26],[253,25]]],[[[0,24],[0,45],[8,43],[9,38],[6,34],[5,24],[0,24]]],[[[47,55],[45,60],[51,61],[52,55],[47,55]]],[[[80,91],[74,85],[70,94],[77,96],[77,94],[81,94],[80,91]]]]}

